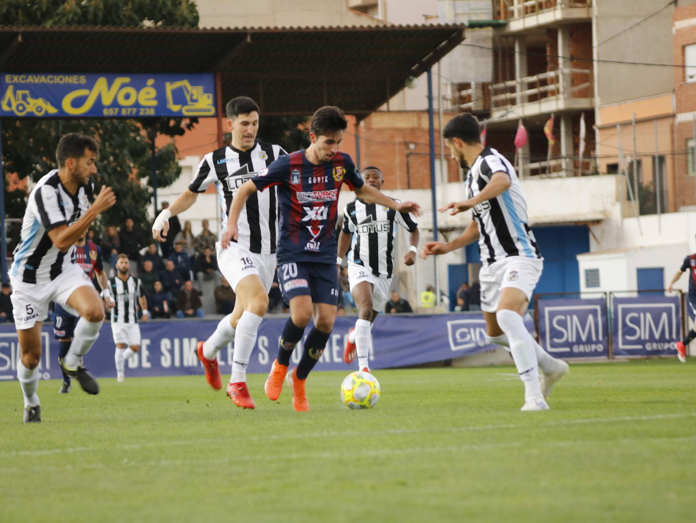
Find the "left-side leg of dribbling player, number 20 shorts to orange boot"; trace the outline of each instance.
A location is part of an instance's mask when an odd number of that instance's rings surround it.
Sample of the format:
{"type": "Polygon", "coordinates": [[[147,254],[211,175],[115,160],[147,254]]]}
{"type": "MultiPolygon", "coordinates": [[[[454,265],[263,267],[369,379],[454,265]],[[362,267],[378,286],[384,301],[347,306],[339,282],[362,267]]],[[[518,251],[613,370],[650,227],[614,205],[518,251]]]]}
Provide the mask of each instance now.
{"type": "Polygon", "coordinates": [[[290,318],[287,318],[283,325],[278,353],[264,384],[266,396],[271,400],[277,400],[280,397],[292,351],[302,339],[304,329],[312,319],[309,279],[308,267],[303,263],[290,262],[278,265],[278,284],[285,303],[290,306],[290,318]]]}

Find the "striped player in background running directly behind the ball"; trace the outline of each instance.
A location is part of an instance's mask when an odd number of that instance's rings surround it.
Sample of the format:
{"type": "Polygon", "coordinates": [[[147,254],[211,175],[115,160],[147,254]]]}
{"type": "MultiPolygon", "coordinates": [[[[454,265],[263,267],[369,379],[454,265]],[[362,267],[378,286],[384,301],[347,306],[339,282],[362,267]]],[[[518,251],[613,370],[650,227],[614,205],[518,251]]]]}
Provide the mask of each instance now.
{"type": "MultiPolygon", "coordinates": [[[[377,167],[365,167],[361,172],[365,185],[381,190],[383,175],[377,167]]],[[[370,372],[368,359],[372,350],[372,325],[379,311],[389,299],[394,270],[394,239],[396,225],[411,233],[411,247],[404,263],[413,265],[418,252],[418,224],[408,212],[365,203],[360,198],[352,201],[343,212],[343,225],[338,237],[338,259],[348,254],[350,292],[358,306],[358,320],[348,331],[343,360],[350,364],[358,354],[358,370],[370,372]]]]}

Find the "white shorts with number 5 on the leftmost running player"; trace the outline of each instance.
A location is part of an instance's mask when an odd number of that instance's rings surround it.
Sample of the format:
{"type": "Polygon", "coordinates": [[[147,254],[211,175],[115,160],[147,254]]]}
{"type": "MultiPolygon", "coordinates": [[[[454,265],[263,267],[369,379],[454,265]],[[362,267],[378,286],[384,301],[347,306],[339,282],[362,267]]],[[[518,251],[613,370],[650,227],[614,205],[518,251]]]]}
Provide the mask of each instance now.
{"type": "Polygon", "coordinates": [[[56,279],[48,283],[24,283],[10,275],[10,285],[15,328],[19,330],[31,329],[36,322],[45,320],[49,302],[61,304],[63,309],[77,316],[77,311],[66,303],[68,298],[79,287],[94,288],[89,276],[74,263],[65,267],[56,279]]]}

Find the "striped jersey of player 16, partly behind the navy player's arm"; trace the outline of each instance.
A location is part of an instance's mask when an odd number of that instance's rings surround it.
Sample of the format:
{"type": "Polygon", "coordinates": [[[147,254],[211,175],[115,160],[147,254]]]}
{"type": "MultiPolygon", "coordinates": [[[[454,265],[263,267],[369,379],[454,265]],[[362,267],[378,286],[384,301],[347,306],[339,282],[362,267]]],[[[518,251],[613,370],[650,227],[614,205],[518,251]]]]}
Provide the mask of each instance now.
{"type": "MultiPolygon", "coordinates": [[[[279,156],[287,155],[280,146],[258,142],[249,150],[235,149],[231,145],[214,150],[203,157],[189,190],[205,192],[216,185],[222,208],[222,228],[227,226],[232,198],[246,180],[251,180],[279,156]]],[[[274,187],[267,192],[249,196],[237,221],[237,242],[253,253],[276,252],[278,237],[278,192],[274,187]]]]}

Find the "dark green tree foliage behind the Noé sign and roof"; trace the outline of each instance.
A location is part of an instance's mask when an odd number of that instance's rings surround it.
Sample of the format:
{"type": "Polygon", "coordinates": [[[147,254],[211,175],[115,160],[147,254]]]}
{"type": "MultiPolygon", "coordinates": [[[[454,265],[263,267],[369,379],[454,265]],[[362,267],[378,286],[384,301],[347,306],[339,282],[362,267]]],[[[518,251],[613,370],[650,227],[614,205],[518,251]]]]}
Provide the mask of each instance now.
{"type": "MultiPolygon", "coordinates": [[[[0,25],[32,26],[184,26],[198,24],[190,0],[0,0],[0,25]]],[[[31,71],[29,71],[31,72],[31,71]]],[[[56,168],[58,141],[68,132],[83,132],[100,142],[95,185],[113,187],[116,205],[102,214],[101,226],[122,225],[128,218],[148,229],[146,209],[152,187],[145,184],[151,171],[150,140],[157,133],[181,136],[197,118],[126,119],[2,119],[3,168],[19,178],[38,180],[56,168]]],[[[181,173],[177,149],[171,141],[157,148],[157,185],[171,185],[181,173]]],[[[149,181],[149,180],[148,180],[149,181]]],[[[6,186],[7,187],[7,186],[6,186]]],[[[8,217],[21,217],[26,205],[22,191],[4,195],[8,217]]],[[[151,217],[150,217],[151,218],[151,217]]]]}

